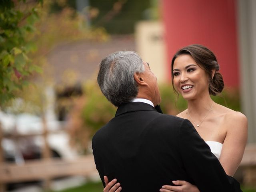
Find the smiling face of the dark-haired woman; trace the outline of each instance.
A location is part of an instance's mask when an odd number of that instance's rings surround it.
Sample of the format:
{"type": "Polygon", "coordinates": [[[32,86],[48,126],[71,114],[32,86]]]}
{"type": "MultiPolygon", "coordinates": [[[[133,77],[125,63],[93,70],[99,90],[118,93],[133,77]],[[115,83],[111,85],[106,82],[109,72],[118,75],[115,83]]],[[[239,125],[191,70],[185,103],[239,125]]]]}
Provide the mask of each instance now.
{"type": "Polygon", "coordinates": [[[186,100],[209,94],[209,77],[189,54],[178,56],[173,65],[174,86],[186,100]]]}

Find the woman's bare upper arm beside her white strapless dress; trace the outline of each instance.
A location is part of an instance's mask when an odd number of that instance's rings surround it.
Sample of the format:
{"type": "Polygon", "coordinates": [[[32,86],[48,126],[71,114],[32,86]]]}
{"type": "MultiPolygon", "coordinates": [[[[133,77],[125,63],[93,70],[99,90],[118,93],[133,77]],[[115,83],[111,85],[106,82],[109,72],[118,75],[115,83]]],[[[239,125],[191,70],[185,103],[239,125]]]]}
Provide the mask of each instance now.
{"type": "Polygon", "coordinates": [[[244,154],[247,142],[247,118],[240,112],[226,116],[224,125],[227,127],[220,164],[229,176],[234,176],[244,154]]]}

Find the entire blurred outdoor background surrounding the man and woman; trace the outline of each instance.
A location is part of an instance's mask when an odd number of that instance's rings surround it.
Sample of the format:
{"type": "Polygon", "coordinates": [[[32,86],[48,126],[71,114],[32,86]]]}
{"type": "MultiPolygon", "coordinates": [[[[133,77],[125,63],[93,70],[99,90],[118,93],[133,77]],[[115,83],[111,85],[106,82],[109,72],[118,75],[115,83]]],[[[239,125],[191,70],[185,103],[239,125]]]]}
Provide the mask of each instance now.
{"type": "Polygon", "coordinates": [[[96,82],[108,54],[133,50],[176,115],[170,63],[189,44],[212,50],[225,89],[214,101],[248,118],[236,175],[256,191],[255,0],[0,0],[0,191],[101,192],[94,133],[115,114],[96,82]]]}

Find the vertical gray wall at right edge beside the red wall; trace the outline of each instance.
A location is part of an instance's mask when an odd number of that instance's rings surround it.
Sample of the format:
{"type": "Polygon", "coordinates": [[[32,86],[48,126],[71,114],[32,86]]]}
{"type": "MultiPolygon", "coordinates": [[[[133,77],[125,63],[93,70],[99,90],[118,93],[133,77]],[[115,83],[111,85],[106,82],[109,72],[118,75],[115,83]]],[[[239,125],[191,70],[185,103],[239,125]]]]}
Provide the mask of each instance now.
{"type": "Polygon", "coordinates": [[[242,110],[248,143],[256,143],[256,0],[237,0],[242,110]]]}

